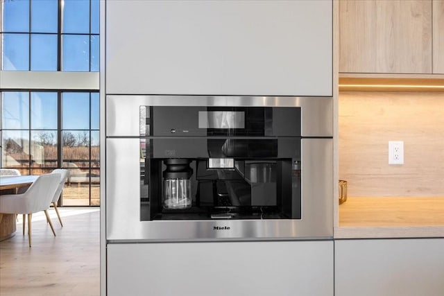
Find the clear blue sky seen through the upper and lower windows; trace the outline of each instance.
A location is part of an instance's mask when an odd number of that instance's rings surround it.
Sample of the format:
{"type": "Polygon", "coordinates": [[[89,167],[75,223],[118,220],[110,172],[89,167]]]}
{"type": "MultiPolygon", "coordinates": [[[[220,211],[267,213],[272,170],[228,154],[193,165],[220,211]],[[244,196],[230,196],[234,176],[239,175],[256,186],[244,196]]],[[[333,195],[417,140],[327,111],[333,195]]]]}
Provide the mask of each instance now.
{"type": "MultiPolygon", "coordinates": [[[[2,1],[2,69],[57,71],[58,1],[2,1]]],[[[65,0],[62,12],[62,71],[99,71],[99,35],[89,35],[99,34],[99,1],[92,0],[90,9],[89,0],[65,0]]],[[[63,93],[61,128],[89,129],[89,111],[91,128],[98,130],[99,94],[89,104],[89,93],[63,93]]],[[[3,92],[3,129],[56,130],[57,116],[56,92],[3,92]]]]}

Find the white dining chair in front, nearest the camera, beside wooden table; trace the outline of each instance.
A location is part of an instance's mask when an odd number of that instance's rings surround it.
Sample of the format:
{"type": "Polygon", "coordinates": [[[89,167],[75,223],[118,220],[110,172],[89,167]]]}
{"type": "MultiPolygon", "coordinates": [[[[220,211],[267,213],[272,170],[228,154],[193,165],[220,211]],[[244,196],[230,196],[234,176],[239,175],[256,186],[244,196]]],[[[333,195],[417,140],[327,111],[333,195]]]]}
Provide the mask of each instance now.
{"type": "Polygon", "coordinates": [[[23,234],[25,234],[26,214],[28,215],[29,247],[31,247],[31,218],[33,213],[37,211],[44,211],[46,220],[51,226],[54,236],[56,236],[48,211],[46,210],[51,204],[51,200],[59,183],[60,174],[40,175],[25,193],[0,196],[1,214],[23,214],[23,234]]]}

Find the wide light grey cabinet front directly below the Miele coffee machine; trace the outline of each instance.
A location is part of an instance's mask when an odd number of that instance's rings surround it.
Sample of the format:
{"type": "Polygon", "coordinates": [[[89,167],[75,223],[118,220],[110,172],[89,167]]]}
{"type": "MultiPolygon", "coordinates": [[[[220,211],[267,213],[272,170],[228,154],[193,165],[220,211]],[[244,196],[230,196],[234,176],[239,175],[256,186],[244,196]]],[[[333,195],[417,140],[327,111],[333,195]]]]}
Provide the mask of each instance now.
{"type": "Polygon", "coordinates": [[[108,296],[333,295],[333,241],[108,244],[108,296]]]}

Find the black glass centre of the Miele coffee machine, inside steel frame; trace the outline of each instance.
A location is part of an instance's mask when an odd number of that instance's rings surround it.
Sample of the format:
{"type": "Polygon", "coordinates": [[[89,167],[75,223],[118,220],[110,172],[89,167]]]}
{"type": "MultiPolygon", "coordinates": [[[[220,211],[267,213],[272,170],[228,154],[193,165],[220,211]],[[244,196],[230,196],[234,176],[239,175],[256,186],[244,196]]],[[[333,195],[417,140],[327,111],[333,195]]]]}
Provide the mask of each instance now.
{"type": "Polygon", "coordinates": [[[140,114],[141,220],[301,218],[300,108],[140,114]]]}

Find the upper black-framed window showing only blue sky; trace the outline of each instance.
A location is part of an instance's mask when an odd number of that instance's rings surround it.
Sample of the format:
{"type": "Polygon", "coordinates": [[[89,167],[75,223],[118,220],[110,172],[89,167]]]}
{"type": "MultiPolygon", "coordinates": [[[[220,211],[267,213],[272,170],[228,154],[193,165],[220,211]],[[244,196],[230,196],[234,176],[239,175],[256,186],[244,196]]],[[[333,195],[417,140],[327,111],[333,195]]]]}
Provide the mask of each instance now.
{"type": "Polygon", "coordinates": [[[99,71],[99,0],[2,0],[3,71],[99,71]]]}

